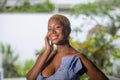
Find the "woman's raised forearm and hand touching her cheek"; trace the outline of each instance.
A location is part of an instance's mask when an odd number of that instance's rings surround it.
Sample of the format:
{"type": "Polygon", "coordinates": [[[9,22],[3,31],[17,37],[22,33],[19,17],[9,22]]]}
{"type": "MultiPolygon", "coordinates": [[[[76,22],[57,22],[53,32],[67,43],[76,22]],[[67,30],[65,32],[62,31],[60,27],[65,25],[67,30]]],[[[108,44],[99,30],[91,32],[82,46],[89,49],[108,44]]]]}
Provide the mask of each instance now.
{"type": "Polygon", "coordinates": [[[49,42],[48,37],[45,37],[46,50],[43,54],[40,54],[33,68],[27,73],[27,80],[36,80],[37,76],[45,67],[47,59],[53,50],[53,44],[49,42]]]}

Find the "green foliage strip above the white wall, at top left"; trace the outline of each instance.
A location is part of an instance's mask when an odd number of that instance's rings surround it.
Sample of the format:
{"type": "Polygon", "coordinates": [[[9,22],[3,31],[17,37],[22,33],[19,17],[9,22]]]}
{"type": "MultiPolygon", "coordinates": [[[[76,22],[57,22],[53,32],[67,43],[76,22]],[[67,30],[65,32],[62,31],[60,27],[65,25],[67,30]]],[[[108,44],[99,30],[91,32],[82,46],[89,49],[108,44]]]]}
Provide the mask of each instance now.
{"type": "Polygon", "coordinates": [[[43,3],[37,3],[34,5],[31,5],[28,0],[25,0],[25,2],[21,6],[13,6],[13,7],[3,7],[0,8],[0,12],[53,12],[55,6],[50,3],[49,1],[45,1],[43,3]]]}

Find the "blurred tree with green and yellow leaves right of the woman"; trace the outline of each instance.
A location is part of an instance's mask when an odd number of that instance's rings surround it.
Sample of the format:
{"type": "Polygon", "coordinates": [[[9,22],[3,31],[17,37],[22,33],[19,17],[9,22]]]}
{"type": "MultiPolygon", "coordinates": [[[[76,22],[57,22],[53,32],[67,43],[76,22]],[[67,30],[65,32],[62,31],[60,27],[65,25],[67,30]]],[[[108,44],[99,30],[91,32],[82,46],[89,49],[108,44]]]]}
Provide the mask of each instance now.
{"type": "Polygon", "coordinates": [[[114,44],[116,40],[120,39],[120,34],[118,34],[120,30],[120,15],[112,15],[110,11],[114,11],[118,7],[120,8],[119,4],[120,0],[109,0],[109,2],[108,0],[99,0],[95,3],[79,4],[71,9],[72,14],[76,16],[84,14],[97,24],[89,31],[86,41],[83,43],[79,42],[79,40],[72,41],[71,44],[77,50],[86,53],[89,59],[92,59],[107,75],[114,76],[117,71],[113,71],[112,67],[114,63],[111,62],[111,59],[114,61],[120,59],[120,47],[114,44]],[[110,23],[103,25],[94,16],[103,19],[107,16],[110,23]]]}

